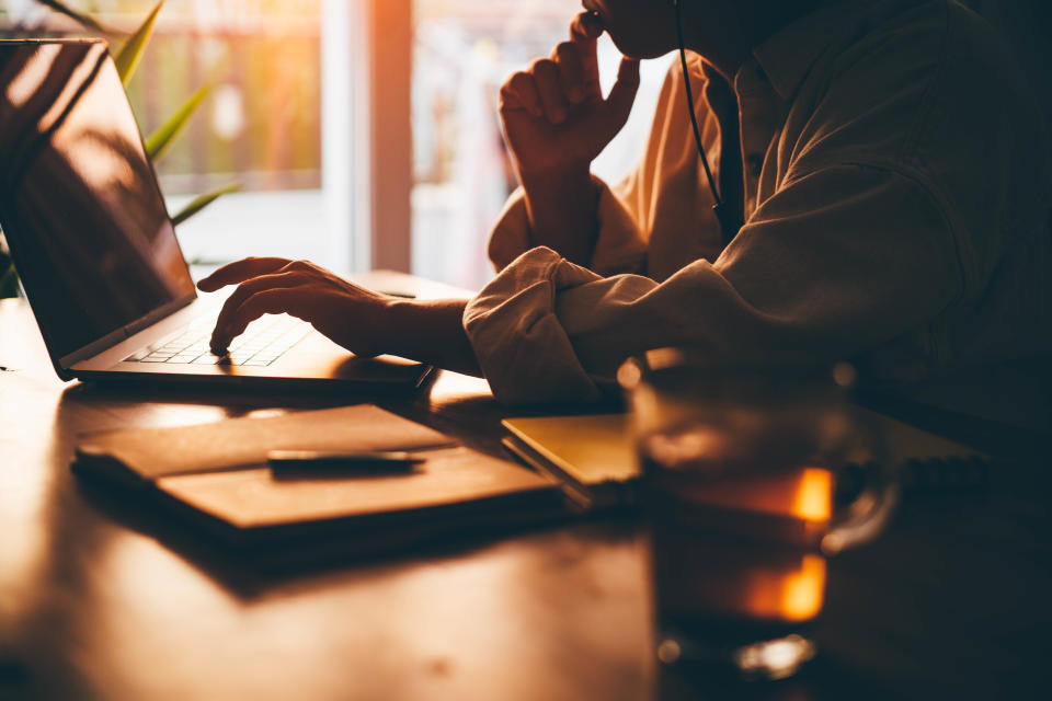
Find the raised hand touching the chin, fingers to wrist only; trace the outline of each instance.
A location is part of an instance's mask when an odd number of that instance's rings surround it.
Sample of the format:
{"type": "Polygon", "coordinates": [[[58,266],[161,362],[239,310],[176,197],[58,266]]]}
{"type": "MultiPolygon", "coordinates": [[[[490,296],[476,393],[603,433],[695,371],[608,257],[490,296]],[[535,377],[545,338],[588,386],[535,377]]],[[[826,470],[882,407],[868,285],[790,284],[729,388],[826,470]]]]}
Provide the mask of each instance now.
{"type": "Polygon", "coordinates": [[[586,172],[628,120],[639,89],[639,60],[621,59],[617,82],[604,100],[596,59],[602,34],[599,19],[582,12],[573,20],[569,42],[501,88],[504,134],[524,182],[581,166],[586,172]]]}

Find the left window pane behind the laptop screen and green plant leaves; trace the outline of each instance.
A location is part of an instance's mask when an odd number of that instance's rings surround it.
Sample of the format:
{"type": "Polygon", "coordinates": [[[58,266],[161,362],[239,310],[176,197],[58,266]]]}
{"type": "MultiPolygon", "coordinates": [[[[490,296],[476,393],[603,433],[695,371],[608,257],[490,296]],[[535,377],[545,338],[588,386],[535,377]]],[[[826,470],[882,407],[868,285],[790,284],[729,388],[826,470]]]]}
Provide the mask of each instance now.
{"type": "MultiPolygon", "coordinates": [[[[71,0],[130,32],[156,0],[71,0]]],[[[322,180],[322,0],[168,0],[128,97],[150,135],[210,84],[186,130],[156,162],[171,211],[230,183],[179,227],[191,261],[256,254],[329,257],[322,180]]],[[[35,0],[0,0],[0,34],[82,34],[35,0]]],[[[119,37],[114,39],[119,47],[119,37]]]]}

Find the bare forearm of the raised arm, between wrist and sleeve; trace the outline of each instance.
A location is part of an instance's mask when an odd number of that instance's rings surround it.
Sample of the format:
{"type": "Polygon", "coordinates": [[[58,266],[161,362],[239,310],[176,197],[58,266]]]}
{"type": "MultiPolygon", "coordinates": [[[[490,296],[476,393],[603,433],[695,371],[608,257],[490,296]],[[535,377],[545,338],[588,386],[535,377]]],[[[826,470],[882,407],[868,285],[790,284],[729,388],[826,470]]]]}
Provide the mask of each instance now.
{"type": "Polygon", "coordinates": [[[546,245],[567,260],[587,266],[598,235],[599,184],[587,165],[573,171],[519,173],[526,194],[530,243],[546,245]]]}

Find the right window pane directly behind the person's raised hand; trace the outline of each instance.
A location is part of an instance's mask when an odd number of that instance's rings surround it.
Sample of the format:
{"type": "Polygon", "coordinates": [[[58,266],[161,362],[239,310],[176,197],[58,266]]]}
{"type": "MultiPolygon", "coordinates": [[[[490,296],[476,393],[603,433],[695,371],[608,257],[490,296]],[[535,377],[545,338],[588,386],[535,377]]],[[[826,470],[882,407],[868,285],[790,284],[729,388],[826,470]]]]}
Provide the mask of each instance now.
{"type": "MultiPolygon", "coordinates": [[[[504,79],[567,38],[581,8],[567,0],[414,0],[412,266],[477,288],[492,276],[485,240],[515,173],[496,113],[504,79]]],[[[647,61],[632,116],[593,170],[617,182],[639,158],[672,56],[647,61]]],[[[599,42],[605,90],[620,55],[599,42]]]]}

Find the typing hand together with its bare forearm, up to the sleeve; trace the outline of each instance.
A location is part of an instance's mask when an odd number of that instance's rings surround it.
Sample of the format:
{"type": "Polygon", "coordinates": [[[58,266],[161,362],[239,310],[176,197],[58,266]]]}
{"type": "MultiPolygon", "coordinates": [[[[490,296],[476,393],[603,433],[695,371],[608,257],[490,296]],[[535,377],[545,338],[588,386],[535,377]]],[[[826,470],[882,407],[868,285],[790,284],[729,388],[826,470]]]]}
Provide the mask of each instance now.
{"type": "Polygon", "coordinates": [[[460,322],[465,300],[408,300],[358,287],[306,261],[244,258],[197,283],[214,292],[238,289],[227,299],[211,333],[213,353],[264,314],[288,313],[355,355],[384,353],[478,374],[478,363],[460,322]]]}

